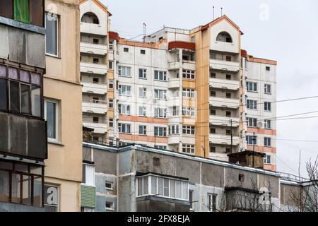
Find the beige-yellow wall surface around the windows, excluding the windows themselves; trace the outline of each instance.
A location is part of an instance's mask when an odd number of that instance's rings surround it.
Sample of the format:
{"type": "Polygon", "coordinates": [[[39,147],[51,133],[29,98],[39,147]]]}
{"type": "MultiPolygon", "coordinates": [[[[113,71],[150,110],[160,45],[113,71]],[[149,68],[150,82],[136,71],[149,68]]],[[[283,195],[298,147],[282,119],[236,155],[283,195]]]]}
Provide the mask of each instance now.
{"type": "Polygon", "coordinates": [[[82,86],[79,72],[78,0],[45,1],[59,15],[59,57],[46,57],[44,96],[59,100],[60,143],[48,144],[45,183],[59,186],[61,211],[80,210],[82,181],[82,86]]]}

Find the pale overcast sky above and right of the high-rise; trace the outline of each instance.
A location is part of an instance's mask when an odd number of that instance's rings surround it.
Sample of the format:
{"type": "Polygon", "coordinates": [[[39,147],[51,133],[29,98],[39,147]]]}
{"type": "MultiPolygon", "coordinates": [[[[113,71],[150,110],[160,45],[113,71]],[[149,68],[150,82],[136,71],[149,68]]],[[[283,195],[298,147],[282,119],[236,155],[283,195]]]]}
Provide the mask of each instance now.
{"type": "MultiPolygon", "coordinates": [[[[275,59],[277,99],[318,95],[318,1],[317,0],[101,0],[112,13],[111,29],[122,37],[155,32],[163,25],[195,28],[223,14],[245,33],[242,48],[254,57],[275,59]]],[[[277,116],[318,111],[318,98],[277,104],[277,116]]],[[[318,113],[299,117],[318,117],[318,113]]],[[[278,121],[278,139],[318,141],[318,118],[278,121]]],[[[278,171],[298,174],[301,152],[305,162],[318,155],[318,142],[277,141],[278,171]]]]}

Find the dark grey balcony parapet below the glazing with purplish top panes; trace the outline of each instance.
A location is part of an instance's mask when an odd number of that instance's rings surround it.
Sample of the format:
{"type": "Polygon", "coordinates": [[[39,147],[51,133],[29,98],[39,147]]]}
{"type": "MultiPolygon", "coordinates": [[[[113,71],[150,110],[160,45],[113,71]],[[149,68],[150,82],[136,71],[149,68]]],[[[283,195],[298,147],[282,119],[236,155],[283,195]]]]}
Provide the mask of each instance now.
{"type": "Polygon", "coordinates": [[[0,112],[0,152],[35,160],[47,158],[44,120],[0,112]]]}

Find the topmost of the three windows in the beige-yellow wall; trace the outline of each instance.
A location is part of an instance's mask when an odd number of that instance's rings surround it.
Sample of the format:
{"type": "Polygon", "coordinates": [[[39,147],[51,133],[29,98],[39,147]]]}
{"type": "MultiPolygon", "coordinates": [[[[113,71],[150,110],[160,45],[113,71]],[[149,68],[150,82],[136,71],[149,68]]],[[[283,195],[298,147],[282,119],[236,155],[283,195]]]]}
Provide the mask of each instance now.
{"type": "Polygon", "coordinates": [[[54,57],[58,56],[58,17],[52,13],[45,14],[45,28],[46,28],[46,53],[54,57]]]}

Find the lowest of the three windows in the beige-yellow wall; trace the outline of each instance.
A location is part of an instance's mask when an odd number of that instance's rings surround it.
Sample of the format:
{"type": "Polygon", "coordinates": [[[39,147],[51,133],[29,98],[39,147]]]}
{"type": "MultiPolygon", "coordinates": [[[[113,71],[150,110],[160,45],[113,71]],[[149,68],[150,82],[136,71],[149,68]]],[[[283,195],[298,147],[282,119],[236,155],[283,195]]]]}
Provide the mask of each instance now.
{"type": "Polygon", "coordinates": [[[59,211],[59,188],[45,184],[45,212],[59,211]]]}

